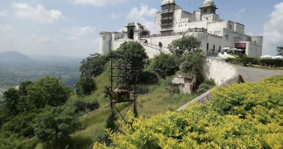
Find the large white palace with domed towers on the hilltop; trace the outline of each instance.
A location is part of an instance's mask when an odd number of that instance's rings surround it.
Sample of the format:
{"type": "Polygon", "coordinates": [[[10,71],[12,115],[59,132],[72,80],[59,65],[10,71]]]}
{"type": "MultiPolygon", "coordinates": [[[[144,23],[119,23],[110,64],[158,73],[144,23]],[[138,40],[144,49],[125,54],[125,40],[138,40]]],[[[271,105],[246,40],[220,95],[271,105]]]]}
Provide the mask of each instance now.
{"type": "Polygon", "coordinates": [[[128,23],[122,32],[100,32],[102,55],[116,50],[125,41],[136,41],[145,48],[152,58],[160,50],[168,52],[167,46],[183,35],[193,35],[202,41],[201,49],[207,54],[224,53],[225,47],[240,49],[248,57],[262,56],[262,36],[245,34],[243,24],[223,20],[217,14],[213,0],[205,0],[198,11],[187,12],[175,0],[163,0],[161,10],[155,15],[155,33],[142,24],[128,23]],[[162,47],[160,47],[160,43],[162,47]]]}

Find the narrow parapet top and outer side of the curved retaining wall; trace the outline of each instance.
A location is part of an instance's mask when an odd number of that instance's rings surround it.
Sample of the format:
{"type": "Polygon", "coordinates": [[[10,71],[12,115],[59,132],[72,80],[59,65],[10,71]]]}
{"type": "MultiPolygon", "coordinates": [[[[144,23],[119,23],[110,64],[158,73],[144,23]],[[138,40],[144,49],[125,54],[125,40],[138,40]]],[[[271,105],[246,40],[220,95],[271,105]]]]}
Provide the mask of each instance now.
{"type": "MultiPolygon", "coordinates": [[[[212,59],[212,58],[206,58],[206,59],[212,59]]],[[[212,60],[215,60],[215,59],[212,59],[212,60]]],[[[220,60],[215,60],[215,61],[220,61],[220,60]]],[[[226,63],[226,62],[223,62],[223,61],[220,61],[220,62],[226,63]]],[[[237,83],[239,82],[239,71],[238,71],[238,69],[236,67],[234,67],[233,65],[229,64],[229,63],[226,63],[226,64],[232,66],[235,69],[235,74],[231,78],[225,80],[220,85],[218,85],[218,87],[224,87],[226,85],[232,85],[233,82],[237,82],[237,83]]],[[[182,111],[182,110],[188,108],[190,104],[196,104],[196,103],[205,104],[206,101],[213,100],[212,90],[214,90],[214,89],[215,89],[215,87],[212,88],[211,90],[205,92],[204,94],[200,95],[199,97],[191,100],[189,103],[187,103],[187,104],[183,105],[182,107],[180,107],[179,109],[177,109],[177,111],[182,111]]]]}

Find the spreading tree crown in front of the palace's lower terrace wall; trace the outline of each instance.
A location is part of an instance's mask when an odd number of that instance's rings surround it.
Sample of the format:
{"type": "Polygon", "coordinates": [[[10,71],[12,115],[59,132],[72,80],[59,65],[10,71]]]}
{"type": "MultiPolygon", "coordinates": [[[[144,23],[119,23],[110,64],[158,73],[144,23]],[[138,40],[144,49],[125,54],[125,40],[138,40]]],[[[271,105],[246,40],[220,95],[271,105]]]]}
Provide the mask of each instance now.
{"type": "Polygon", "coordinates": [[[183,36],[180,39],[173,40],[168,49],[171,53],[179,56],[186,54],[187,52],[199,50],[202,41],[194,36],[183,36]]]}

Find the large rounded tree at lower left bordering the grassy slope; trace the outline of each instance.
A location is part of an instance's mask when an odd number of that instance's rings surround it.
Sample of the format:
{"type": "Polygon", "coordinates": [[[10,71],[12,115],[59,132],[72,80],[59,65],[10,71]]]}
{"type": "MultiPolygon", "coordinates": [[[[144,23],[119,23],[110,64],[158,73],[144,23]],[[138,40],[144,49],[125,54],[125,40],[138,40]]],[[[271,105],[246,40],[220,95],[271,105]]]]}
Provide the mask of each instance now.
{"type": "Polygon", "coordinates": [[[47,106],[34,119],[35,135],[42,143],[64,145],[80,125],[73,106],[47,106]]]}

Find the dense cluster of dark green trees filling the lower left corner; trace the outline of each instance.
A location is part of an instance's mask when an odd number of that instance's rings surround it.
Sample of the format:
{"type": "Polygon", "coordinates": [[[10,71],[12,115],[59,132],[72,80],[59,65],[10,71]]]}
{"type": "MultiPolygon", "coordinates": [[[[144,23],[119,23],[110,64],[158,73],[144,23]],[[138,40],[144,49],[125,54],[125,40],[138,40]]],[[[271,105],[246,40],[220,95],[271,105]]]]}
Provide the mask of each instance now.
{"type": "Polygon", "coordinates": [[[68,139],[78,124],[76,109],[66,104],[71,92],[55,77],[22,82],[18,90],[5,91],[0,105],[0,149],[32,149],[39,142],[68,139]]]}

